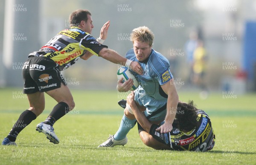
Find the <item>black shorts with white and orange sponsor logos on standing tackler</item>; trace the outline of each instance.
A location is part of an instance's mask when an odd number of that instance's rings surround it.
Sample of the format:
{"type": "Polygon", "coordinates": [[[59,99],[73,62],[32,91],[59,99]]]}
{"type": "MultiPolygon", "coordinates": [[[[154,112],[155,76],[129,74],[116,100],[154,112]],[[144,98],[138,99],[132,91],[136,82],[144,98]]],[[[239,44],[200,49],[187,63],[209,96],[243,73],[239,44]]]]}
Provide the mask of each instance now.
{"type": "Polygon", "coordinates": [[[22,68],[23,93],[46,92],[67,85],[58,64],[46,57],[29,57],[22,68]]]}

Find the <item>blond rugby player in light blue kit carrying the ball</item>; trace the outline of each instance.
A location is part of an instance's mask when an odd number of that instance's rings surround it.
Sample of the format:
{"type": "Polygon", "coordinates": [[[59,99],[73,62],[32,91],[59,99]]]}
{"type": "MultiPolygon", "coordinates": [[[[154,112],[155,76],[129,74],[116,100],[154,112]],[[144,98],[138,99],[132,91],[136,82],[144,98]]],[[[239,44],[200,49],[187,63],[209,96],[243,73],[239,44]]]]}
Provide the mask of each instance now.
{"type": "MultiPolygon", "coordinates": [[[[170,72],[169,61],[152,49],[153,40],[154,34],[148,27],[142,26],[133,29],[131,33],[133,49],[129,50],[125,57],[139,62],[144,70],[143,75],[134,73],[140,83],[140,86],[134,91],[136,104],[141,111],[144,111],[150,122],[159,124],[165,120],[165,123],[157,128],[157,131],[167,133],[172,130],[179,98],[170,72]]],[[[117,90],[127,92],[132,85],[133,80],[129,79],[122,83],[122,79],[120,79],[117,90]]],[[[119,130],[98,147],[113,147],[127,143],[126,135],[137,120],[128,105],[124,113],[119,130]]]]}

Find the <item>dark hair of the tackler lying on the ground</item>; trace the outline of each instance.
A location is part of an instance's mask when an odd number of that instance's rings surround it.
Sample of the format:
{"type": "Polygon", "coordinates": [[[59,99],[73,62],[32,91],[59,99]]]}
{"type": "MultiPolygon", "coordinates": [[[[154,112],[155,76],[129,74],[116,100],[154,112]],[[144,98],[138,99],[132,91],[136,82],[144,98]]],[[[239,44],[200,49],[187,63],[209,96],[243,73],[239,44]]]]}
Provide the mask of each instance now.
{"type": "Polygon", "coordinates": [[[177,105],[176,121],[180,131],[189,132],[199,126],[196,105],[193,100],[188,103],[179,102],[177,105]]]}

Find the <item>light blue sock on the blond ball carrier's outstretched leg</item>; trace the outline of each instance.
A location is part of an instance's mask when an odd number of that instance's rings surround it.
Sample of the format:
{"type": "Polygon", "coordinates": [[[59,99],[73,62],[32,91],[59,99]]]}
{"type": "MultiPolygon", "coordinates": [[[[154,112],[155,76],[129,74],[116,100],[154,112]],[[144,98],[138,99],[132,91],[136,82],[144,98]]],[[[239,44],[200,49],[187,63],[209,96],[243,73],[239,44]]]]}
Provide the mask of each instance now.
{"type": "Polygon", "coordinates": [[[125,115],[122,118],[120,123],[120,127],[117,132],[114,134],[115,140],[122,140],[125,139],[127,133],[134,127],[136,119],[128,119],[125,115]]]}

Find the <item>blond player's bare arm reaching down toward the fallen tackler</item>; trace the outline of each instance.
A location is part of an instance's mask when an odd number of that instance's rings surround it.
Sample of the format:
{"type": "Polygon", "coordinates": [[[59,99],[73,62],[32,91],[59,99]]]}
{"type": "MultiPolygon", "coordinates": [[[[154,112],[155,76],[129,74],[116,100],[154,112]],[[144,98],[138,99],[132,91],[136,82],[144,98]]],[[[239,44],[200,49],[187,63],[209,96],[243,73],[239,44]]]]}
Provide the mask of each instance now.
{"type": "Polygon", "coordinates": [[[161,85],[163,91],[168,95],[165,123],[157,128],[161,133],[167,133],[172,130],[172,123],[175,119],[179,96],[177,94],[173,79],[166,84],[161,85]]]}

